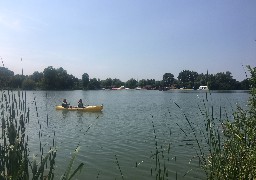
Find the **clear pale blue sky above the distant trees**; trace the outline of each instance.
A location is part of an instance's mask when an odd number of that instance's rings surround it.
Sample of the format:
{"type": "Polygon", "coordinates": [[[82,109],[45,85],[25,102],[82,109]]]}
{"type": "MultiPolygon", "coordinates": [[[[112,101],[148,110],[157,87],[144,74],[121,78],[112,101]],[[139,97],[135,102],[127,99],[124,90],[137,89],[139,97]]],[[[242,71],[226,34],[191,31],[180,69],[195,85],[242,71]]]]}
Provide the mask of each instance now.
{"type": "Polygon", "coordinates": [[[30,75],[161,80],[256,66],[255,0],[0,0],[0,57],[30,75]],[[22,58],[22,61],[21,61],[22,58]]]}

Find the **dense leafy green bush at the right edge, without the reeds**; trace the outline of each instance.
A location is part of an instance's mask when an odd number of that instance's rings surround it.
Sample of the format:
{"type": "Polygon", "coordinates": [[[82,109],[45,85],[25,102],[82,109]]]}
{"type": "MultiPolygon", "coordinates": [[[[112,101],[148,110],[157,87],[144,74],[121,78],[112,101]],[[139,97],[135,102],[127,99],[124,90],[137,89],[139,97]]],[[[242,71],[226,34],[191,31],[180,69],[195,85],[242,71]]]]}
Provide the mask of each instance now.
{"type": "MultiPolygon", "coordinates": [[[[225,179],[256,178],[256,68],[248,66],[250,99],[248,109],[237,107],[234,120],[224,123],[224,142],[218,153],[218,168],[207,164],[212,169],[211,176],[225,179]]],[[[210,159],[213,159],[211,157],[210,159]]]]}

